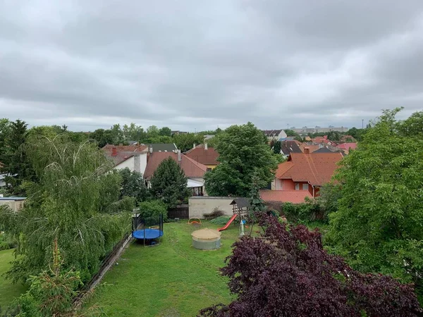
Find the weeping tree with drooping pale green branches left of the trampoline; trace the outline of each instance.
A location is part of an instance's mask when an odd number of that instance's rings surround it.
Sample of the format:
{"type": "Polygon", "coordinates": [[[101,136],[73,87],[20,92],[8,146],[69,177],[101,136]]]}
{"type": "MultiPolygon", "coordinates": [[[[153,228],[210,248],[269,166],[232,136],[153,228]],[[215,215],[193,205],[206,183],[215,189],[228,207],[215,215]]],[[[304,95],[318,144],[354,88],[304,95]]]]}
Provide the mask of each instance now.
{"type": "Polygon", "coordinates": [[[27,280],[47,268],[57,238],[63,267],[89,280],[130,230],[133,204],[118,200],[121,178],[90,142],[39,137],[30,140],[26,151],[39,182],[24,184],[27,201],[22,211],[0,216],[6,230],[18,238],[16,260],[7,276],[27,280]]]}

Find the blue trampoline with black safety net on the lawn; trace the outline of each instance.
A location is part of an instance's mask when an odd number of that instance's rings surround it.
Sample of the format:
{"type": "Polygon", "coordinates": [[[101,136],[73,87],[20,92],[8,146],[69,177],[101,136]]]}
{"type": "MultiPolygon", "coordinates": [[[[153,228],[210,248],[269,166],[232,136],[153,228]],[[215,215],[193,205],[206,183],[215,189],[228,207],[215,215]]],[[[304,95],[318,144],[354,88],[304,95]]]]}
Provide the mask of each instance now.
{"type": "Polygon", "coordinates": [[[144,243],[144,246],[154,246],[161,242],[163,237],[163,215],[142,218],[141,215],[133,216],[132,236],[144,243]],[[158,242],[158,243],[157,243],[158,242]]]}

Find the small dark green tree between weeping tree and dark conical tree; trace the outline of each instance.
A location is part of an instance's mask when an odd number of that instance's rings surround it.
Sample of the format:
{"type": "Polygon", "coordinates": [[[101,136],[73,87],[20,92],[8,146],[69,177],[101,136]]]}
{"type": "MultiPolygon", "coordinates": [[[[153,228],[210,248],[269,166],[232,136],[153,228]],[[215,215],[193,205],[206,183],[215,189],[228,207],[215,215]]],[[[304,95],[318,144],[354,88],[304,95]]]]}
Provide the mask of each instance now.
{"type": "Polygon", "coordinates": [[[119,170],[119,174],[122,178],[121,198],[134,197],[135,202],[138,204],[149,197],[149,192],[141,173],[131,171],[129,168],[123,168],[119,170]]]}

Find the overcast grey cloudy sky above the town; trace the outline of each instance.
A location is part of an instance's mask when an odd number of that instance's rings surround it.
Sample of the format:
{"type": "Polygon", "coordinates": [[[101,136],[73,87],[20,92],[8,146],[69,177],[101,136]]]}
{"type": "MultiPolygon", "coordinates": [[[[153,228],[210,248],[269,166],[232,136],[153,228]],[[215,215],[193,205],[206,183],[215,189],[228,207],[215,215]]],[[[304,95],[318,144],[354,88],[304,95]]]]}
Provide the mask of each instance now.
{"type": "Polygon", "coordinates": [[[423,109],[423,1],[4,0],[0,118],[357,126],[423,109]]]}

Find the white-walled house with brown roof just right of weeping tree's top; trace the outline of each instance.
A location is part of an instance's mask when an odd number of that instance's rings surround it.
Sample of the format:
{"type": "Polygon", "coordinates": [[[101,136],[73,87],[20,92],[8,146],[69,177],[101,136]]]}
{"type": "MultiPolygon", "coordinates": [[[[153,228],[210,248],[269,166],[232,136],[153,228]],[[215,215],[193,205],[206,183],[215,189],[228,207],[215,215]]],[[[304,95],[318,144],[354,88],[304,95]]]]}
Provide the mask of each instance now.
{"type": "Polygon", "coordinates": [[[114,168],[145,173],[147,167],[148,148],[145,145],[113,145],[106,144],[102,150],[114,162],[114,168]]]}

